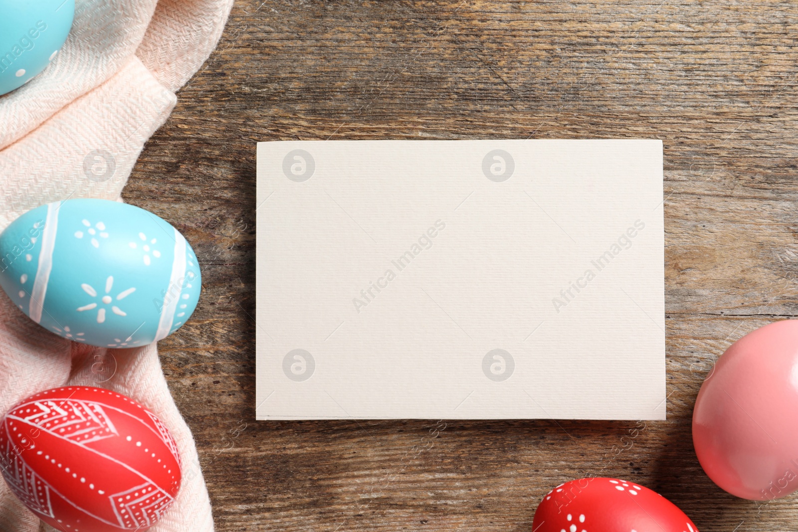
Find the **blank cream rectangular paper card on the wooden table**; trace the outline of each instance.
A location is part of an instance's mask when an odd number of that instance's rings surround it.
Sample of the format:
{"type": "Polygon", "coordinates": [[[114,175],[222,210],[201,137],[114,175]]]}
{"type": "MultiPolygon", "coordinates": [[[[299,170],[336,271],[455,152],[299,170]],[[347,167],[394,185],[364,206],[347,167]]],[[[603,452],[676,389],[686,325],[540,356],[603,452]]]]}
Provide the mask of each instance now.
{"type": "Polygon", "coordinates": [[[660,140],[258,144],[259,420],[664,420],[660,140]]]}

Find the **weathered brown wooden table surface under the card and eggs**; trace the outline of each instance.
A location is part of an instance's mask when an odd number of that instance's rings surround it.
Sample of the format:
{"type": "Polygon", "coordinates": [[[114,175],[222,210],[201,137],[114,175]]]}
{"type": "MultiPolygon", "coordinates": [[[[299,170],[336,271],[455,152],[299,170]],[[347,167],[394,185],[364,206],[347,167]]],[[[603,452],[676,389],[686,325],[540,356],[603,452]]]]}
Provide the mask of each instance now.
{"type": "Polygon", "coordinates": [[[796,32],[776,0],[236,2],[125,191],[203,264],[161,360],[217,529],[528,531],[605,475],[702,532],[798,530],[796,497],[725,494],[690,437],[713,361],[798,311],[796,32]],[[255,142],[529,137],[664,141],[668,420],[255,422],[255,142]]]}

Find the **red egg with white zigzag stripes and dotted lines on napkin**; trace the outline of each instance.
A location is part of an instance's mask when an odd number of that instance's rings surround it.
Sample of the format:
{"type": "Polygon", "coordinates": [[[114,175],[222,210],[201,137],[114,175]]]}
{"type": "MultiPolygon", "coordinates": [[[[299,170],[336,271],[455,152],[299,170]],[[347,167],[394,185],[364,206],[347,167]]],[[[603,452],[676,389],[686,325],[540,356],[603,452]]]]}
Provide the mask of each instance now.
{"type": "Polygon", "coordinates": [[[180,489],[175,440],[152,412],[103,388],[30,396],[0,428],[11,491],[57,530],[147,530],[180,489]]]}

